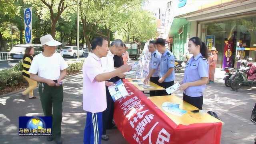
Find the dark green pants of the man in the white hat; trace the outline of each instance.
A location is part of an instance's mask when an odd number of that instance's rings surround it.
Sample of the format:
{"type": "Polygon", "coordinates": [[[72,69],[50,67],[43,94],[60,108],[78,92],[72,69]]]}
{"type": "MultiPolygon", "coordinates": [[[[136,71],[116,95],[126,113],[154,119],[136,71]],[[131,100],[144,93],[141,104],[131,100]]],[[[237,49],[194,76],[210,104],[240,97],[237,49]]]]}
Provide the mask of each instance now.
{"type": "Polygon", "coordinates": [[[61,135],[63,87],[39,84],[39,95],[44,116],[52,116],[52,135],[54,138],[61,135]]]}

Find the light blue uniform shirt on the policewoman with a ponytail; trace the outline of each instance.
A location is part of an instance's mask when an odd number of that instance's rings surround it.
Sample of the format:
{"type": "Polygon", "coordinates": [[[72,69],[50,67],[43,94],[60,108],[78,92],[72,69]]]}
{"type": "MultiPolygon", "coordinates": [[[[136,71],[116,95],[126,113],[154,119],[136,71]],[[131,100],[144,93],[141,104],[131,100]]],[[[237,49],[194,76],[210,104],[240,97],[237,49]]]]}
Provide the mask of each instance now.
{"type": "MultiPolygon", "coordinates": [[[[186,82],[194,82],[200,80],[202,77],[208,77],[209,75],[209,64],[206,58],[202,54],[198,54],[196,57],[190,58],[186,63],[185,74],[182,84],[186,82]]],[[[189,86],[184,93],[191,97],[202,96],[206,84],[201,86],[189,86]]]]}

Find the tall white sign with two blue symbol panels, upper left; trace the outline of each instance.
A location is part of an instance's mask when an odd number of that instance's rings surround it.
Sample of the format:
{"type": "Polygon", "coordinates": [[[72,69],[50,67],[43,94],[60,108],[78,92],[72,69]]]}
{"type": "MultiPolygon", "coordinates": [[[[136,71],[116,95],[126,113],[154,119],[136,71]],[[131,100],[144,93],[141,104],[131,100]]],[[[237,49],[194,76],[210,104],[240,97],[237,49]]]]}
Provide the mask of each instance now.
{"type": "Polygon", "coordinates": [[[25,44],[32,43],[32,8],[24,9],[25,44]]]}

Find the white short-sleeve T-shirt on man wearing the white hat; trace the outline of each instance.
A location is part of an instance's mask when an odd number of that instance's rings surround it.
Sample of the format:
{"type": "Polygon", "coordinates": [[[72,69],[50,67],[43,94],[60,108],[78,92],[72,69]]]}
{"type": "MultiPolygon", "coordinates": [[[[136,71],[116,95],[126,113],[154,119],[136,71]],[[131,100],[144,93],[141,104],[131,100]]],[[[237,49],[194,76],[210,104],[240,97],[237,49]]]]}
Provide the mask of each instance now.
{"type": "Polygon", "coordinates": [[[29,73],[50,80],[58,80],[60,71],[68,68],[68,64],[62,58],[60,53],[54,53],[50,57],[44,56],[42,53],[36,55],[31,63],[29,73]]]}

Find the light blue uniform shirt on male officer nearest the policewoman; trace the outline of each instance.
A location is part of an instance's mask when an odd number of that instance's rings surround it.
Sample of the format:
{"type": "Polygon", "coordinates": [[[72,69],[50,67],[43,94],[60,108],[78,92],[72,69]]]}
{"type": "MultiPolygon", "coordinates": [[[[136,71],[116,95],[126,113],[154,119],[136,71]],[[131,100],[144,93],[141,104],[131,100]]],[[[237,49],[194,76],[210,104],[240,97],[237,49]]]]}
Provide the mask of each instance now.
{"type": "MultiPolygon", "coordinates": [[[[174,68],[174,55],[170,50],[166,50],[164,54],[161,56],[161,63],[160,63],[160,77],[164,76],[169,68],[174,68]]],[[[164,80],[164,82],[171,82],[175,80],[175,72],[174,70],[172,73],[164,80]]]]}

